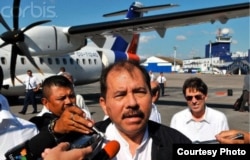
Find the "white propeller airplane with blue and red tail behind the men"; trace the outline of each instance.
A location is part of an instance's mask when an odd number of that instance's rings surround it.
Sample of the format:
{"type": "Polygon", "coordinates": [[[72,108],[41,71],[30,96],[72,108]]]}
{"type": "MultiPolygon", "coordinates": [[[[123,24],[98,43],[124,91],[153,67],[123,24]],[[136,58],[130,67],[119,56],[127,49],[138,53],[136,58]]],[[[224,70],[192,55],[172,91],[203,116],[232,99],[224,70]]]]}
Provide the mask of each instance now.
{"type": "Polygon", "coordinates": [[[228,19],[249,16],[249,3],[242,3],[141,17],[145,11],[176,5],[142,7],[141,3],[134,2],[127,15],[134,11],[132,15],[139,18],[127,17],[123,20],[71,27],[39,26],[49,22],[44,20],[19,28],[19,6],[20,0],[14,0],[13,29],[0,15],[0,22],[7,30],[0,36],[0,64],[4,75],[2,94],[6,96],[24,94],[24,86],[15,77],[24,79],[27,69],[31,69],[35,76],[43,80],[65,66],[73,74],[76,85],[87,84],[98,81],[103,67],[116,61],[143,61],[143,58],[135,54],[140,32],[155,30],[164,37],[166,29],[171,27],[214,23],[217,20],[226,23],[228,19]],[[118,36],[113,43],[115,47],[105,49],[107,37],[112,36],[118,36]],[[99,47],[87,47],[87,39],[91,39],[99,47]],[[127,47],[129,42],[131,44],[127,47]],[[125,47],[117,47],[120,43],[125,47]]]}

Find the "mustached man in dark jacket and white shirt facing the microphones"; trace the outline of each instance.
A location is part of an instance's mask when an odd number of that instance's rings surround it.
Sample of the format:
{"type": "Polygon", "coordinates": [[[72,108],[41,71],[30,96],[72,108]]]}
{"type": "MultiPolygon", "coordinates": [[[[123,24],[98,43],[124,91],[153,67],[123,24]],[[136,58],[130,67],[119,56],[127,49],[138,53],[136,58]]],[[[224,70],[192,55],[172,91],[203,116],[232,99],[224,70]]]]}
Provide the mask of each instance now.
{"type": "Polygon", "coordinates": [[[191,143],[182,133],[149,120],[150,78],[136,62],[123,61],[104,69],[99,103],[108,119],[96,123],[107,140],[117,140],[116,160],[172,159],[173,144],[191,143]]]}

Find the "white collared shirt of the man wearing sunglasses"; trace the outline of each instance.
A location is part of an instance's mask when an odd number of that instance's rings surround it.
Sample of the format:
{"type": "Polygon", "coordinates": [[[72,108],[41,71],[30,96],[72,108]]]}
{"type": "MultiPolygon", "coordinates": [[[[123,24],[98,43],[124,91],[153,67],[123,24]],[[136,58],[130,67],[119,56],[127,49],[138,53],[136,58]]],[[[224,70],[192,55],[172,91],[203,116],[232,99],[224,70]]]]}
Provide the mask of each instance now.
{"type": "Polygon", "coordinates": [[[225,114],[207,106],[203,120],[194,121],[187,108],[174,114],[170,127],[182,132],[193,142],[215,140],[216,134],[229,129],[225,114]]]}

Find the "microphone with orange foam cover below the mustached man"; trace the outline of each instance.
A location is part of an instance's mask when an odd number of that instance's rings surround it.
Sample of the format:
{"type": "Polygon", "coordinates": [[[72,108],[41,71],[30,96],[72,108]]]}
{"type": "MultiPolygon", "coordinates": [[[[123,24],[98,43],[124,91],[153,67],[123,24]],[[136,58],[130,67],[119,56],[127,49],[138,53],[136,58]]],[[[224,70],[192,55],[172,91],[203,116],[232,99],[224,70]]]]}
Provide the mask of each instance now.
{"type": "Polygon", "coordinates": [[[117,141],[109,141],[91,160],[110,160],[119,150],[120,144],[117,141]]]}

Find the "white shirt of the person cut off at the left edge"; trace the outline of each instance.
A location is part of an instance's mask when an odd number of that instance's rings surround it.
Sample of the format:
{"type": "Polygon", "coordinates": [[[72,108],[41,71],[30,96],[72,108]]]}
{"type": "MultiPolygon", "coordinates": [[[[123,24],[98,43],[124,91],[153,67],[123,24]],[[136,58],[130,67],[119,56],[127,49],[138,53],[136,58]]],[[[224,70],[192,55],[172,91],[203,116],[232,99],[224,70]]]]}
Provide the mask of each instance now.
{"type": "Polygon", "coordinates": [[[0,159],[11,148],[25,142],[38,133],[36,125],[16,117],[9,110],[7,99],[0,94],[0,159]]]}

